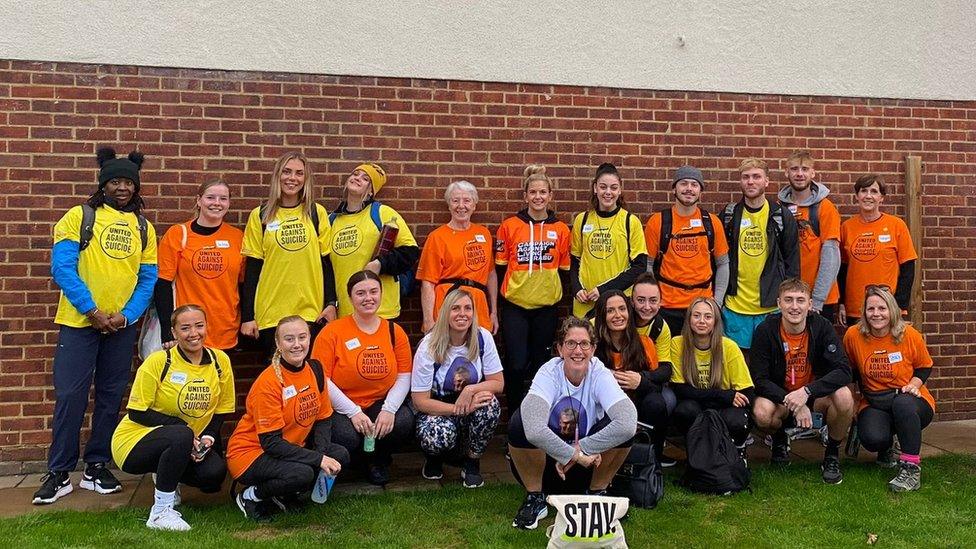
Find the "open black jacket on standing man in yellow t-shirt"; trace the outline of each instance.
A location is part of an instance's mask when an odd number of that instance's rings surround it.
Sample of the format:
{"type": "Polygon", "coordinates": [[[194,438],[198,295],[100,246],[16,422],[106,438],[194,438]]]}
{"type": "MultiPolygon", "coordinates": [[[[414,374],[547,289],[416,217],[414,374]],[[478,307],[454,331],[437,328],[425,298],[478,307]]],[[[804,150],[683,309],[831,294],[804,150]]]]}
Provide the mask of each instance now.
{"type": "MultiPolygon", "coordinates": [[[[745,202],[739,200],[726,206],[720,216],[729,241],[729,288],[725,295],[736,295],[739,289],[739,229],[742,225],[742,210],[745,202]]],[[[769,256],[759,276],[759,304],[775,307],[779,297],[779,285],[787,278],[800,276],[800,241],[796,218],[788,208],[777,202],[769,202],[769,217],[766,220],[766,238],[770,242],[769,256]],[[780,229],[776,217],[783,220],[780,229]]],[[[720,304],[721,305],[721,304],[720,304]]]]}

